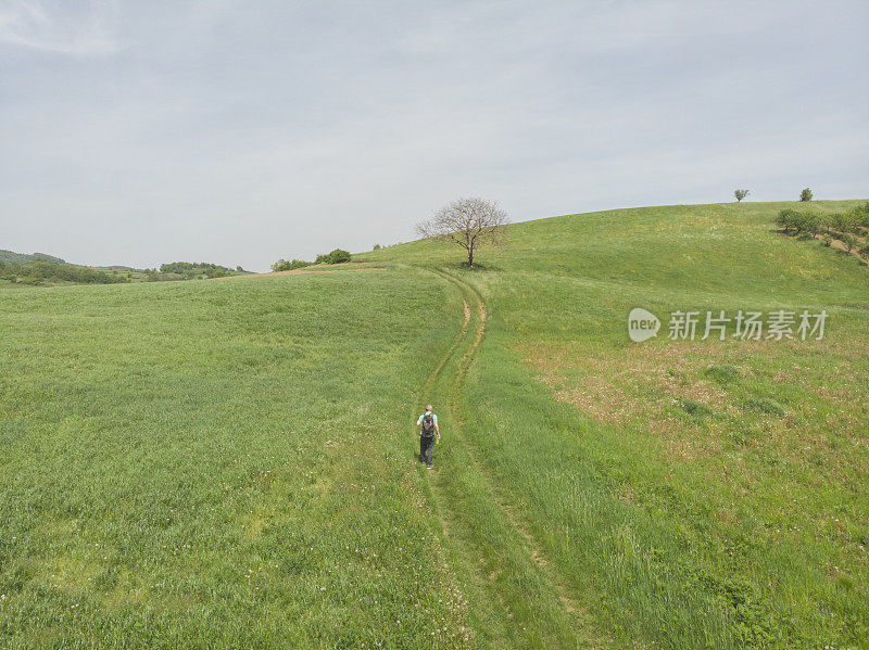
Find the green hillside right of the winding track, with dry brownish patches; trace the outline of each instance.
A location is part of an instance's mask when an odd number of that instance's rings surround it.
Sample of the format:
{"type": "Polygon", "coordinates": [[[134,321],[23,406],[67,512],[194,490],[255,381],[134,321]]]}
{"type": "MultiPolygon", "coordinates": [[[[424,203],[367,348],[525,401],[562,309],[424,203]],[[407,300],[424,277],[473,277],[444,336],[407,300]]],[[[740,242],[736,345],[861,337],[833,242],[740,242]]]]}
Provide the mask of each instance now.
{"type": "MultiPolygon", "coordinates": [[[[869,638],[869,272],[771,232],[793,205],[519,224],[507,251],[480,255],[488,270],[453,271],[491,315],[463,402],[478,474],[622,642],[869,638]],[[822,342],[635,345],[634,306],[665,327],[689,308],[831,318],[822,342]]],[[[455,266],[459,253],[414,242],[357,258],[455,266]]]]}

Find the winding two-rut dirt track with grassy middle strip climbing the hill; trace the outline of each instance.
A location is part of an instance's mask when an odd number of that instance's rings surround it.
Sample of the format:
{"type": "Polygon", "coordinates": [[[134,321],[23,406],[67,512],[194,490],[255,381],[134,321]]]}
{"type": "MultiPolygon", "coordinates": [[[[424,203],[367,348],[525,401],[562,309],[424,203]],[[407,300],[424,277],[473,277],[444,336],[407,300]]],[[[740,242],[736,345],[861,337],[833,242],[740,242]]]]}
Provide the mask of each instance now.
{"type": "Polygon", "coordinates": [[[486,333],[487,309],[470,284],[452,273],[438,275],[461,292],[464,322],[425,388],[445,402],[450,415],[449,434],[444,432],[439,450],[443,470],[429,474],[429,498],[450,544],[459,547],[464,564],[476,575],[477,588],[488,594],[489,611],[501,611],[492,614],[503,634],[500,643],[493,633],[494,645],[606,646],[592,632],[584,608],[546,557],[543,544],[482,462],[483,451],[474,436],[465,431],[466,377],[486,333]],[[448,368],[449,373],[444,372],[448,368]],[[489,546],[492,538],[499,539],[499,548],[489,546]],[[533,592],[522,586],[529,584],[537,585],[533,592]]]}

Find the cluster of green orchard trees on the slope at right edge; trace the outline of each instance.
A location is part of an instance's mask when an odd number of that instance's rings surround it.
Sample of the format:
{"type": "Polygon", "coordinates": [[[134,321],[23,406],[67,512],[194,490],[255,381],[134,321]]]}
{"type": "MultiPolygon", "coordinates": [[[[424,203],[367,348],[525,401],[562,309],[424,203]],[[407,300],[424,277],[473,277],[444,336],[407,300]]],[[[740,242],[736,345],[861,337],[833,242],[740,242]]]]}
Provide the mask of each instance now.
{"type": "Polygon", "coordinates": [[[776,217],[776,226],[784,234],[823,238],[827,246],[833,240],[842,242],[848,253],[859,251],[869,256],[867,232],[869,232],[869,203],[852,208],[847,213],[824,215],[817,211],[796,211],[786,208],[776,217]]]}

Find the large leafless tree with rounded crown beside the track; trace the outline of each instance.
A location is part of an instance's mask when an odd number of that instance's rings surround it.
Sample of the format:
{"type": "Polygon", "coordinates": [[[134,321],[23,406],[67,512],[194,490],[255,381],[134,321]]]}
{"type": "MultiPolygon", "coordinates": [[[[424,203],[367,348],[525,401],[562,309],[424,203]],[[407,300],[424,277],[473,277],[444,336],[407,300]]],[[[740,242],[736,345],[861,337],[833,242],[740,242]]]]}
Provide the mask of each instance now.
{"type": "Polygon", "coordinates": [[[468,268],[474,268],[474,252],[484,244],[502,245],[508,224],[496,201],[470,197],[444,205],[431,219],[417,224],[416,231],[424,238],[455,242],[467,251],[468,268]]]}

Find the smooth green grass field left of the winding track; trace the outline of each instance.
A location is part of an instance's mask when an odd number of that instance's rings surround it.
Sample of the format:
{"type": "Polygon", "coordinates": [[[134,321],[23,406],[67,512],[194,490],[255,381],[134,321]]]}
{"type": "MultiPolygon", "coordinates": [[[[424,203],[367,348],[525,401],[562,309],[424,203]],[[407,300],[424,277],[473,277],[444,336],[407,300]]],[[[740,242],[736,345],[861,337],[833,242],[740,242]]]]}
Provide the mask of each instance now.
{"type": "Polygon", "coordinates": [[[1,293],[0,645],[464,643],[407,422],[458,329],[446,286],[1,293]]]}

